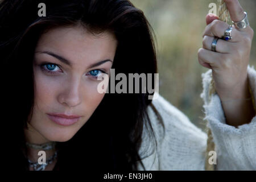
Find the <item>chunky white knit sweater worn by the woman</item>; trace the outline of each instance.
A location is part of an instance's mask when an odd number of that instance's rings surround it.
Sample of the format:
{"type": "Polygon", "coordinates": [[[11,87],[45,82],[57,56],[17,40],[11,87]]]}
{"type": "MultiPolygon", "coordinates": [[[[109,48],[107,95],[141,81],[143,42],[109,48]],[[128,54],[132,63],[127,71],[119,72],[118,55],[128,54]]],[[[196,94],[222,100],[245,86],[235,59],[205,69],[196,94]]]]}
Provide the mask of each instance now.
{"type": "MultiPolygon", "coordinates": [[[[256,71],[248,66],[249,84],[256,98],[256,71]]],[[[212,130],[217,170],[256,170],[256,117],[249,124],[230,126],[226,124],[224,110],[217,94],[209,96],[212,70],[202,74],[205,122],[212,130]],[[207,121],[206,121],[207,120],[207,121]]],[[[170,102],[159,96],[152,100],[163,118],[166,135],[154,111],[148,107],[152,127],[155,131],[158,147],[156,151],[143,159],[146,170],[204,170],[207,149],[207,134],[197,128],[189,119],[170,102]],[[163,140],[161,140],[163,139],[163,140]],[[162,142],[161,142],[162,141],[162,142]]],[[[139,154],[152,147],[144,131],[142,147],[139,154]]],[[[139,170],[143,170],[139,164],[139,170]]]]}

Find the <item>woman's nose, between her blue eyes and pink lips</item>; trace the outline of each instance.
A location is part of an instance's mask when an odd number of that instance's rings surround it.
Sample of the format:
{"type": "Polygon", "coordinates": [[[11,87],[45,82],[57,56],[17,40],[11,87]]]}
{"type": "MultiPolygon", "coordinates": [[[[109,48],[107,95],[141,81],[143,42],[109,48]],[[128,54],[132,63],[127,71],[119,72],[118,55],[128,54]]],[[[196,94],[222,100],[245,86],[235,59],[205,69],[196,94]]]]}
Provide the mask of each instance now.
{"type": "Polygon", "coordinates": [[[60,104],[68,107],[75,107],[81,104],[79,79],[65,82],[65,85],[60,89],[61,92],[57,98],[60,104]]]}

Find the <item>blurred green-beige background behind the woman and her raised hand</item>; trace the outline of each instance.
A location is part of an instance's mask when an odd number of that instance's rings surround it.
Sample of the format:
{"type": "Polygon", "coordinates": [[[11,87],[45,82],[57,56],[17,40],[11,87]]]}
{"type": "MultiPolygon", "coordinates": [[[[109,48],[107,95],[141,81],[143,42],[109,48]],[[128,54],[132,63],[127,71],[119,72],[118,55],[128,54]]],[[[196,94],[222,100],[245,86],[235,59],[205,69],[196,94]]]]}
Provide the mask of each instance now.
{"type": "MultiPolygon", "coordinates": [[[[141,9],[156,34],[158,45],[159,93],[183,111],[191,122],[205,131],[201,73],[207,72],[197,60],[202,47],[209,4],[217,0],[131,0],[141,9]]],[[[256,32],[256,1],[240,0],[250,26],[256,32]]],[[[255,36],[254,36],[255,37],[255,36]]],[[[256,65],[256,40],[253,40],[250,65],[256,65]]]]}

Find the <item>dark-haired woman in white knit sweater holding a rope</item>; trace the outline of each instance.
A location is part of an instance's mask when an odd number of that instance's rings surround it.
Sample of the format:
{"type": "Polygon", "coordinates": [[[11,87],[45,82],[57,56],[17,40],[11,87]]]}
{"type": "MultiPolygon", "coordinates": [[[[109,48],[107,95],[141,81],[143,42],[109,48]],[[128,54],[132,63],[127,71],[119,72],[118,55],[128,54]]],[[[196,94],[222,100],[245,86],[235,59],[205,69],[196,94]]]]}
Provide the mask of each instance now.
{"type": "MultiPolygon", "coordinates": [[[[226,2],[233,20],[243,19],[238,1],[226,2]]],[[[207,17],[199,61],[210,68],[201,97],[217,169],[256,169],[255,113],[247,100],[248,85],[256,96],[248,66],[253,31],[233,28],[233,39],[218,40],[213,52],[214,36],[228,28],[213,19],[207,17]],[[216,93],[209,96],[211,74],[216,93]]],[[[1,1],[0,25],[6,169],[205,168],[207,135],[163,97],[97,92],[97,78],[110,68],[116,75],[157,73],[152,28],[130,1],[1,1]],[[38,14],[42,2],[46,16],[38,14]],[[46,164],[38,163],[40,151],[46,164]]]]}

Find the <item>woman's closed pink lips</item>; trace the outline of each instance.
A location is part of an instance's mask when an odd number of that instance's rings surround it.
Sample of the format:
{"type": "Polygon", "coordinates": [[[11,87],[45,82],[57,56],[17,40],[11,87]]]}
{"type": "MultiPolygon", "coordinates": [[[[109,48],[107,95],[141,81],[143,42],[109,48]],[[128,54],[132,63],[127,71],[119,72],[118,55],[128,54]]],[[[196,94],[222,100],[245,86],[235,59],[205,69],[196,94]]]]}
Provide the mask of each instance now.
{"type": "Polygon", "coordinates": [[[65,115],[65,114],[47,114],[48,118],[58,125],[70,126],[79,121],[79,115],[65,115]]]}

